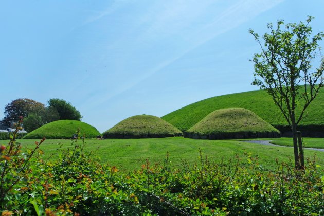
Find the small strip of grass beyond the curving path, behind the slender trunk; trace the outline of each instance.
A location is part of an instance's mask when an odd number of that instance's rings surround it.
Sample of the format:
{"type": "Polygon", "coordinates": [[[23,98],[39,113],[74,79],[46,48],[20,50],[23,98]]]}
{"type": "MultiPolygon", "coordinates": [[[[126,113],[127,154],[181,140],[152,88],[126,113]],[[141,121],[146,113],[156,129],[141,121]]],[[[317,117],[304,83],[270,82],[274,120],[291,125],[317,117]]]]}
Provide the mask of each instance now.
{"type": "MultiPolygon", "coordinates": [[[[305,148],[324,149],[324,138],[305,137],[302,140],[305,148]]],[[[282,137],[280,139],[273,140],[271,141],[271,143],[280,146],[291,146],[291,147],[293,146],[292,138],[287,138],[287,137],[282,137]]]]}

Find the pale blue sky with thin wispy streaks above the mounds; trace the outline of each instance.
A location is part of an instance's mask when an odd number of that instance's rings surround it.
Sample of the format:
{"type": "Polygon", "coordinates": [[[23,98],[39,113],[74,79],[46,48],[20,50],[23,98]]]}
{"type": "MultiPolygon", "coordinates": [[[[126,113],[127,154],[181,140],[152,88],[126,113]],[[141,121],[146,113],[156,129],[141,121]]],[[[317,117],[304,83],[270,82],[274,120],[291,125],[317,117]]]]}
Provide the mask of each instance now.
{"type": "MultiPolygon", "coordinates": [[[[324,1],[117,0],[0,3],[0,119],[7,103],[71,102],[100,132],[251,86],[248,33],[304,21],[324,31],[324,1]]],[[[323,47],[323,46],[322,46],[323,47]]]]}

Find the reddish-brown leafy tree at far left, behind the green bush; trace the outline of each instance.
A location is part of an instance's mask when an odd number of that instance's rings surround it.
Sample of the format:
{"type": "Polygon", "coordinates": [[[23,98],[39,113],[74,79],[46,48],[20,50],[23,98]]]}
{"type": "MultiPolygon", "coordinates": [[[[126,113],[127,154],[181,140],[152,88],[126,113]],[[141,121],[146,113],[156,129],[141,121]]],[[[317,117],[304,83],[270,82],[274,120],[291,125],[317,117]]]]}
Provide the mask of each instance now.
{"type": "Polygon", "coordinates": [[[5,117],[2,120],[3,124],[12,126],[15,122],[19,121],[19,117],[27,117],[30,113],[40,110],[45,110],[43,103],[28,99],[19,98],[11,101],[5,107],[5,117]]]}

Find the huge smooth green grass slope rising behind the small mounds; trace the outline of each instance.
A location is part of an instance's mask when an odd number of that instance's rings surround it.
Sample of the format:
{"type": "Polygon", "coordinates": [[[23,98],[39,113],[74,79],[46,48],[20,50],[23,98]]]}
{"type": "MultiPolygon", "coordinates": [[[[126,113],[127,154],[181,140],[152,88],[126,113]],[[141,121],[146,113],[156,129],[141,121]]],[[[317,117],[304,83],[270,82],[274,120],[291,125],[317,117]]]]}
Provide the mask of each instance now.
{"type": "MultiPolygon", "coordinates": [[[[300,112],[301,105],[297,107],[297,113],[300,112]]],[[[287,125],[272,98],[262,90],[208,98],[187,105],[161,118],[173,124],[181,131],[186,131],[209,113],[215,110],[233,107],[248,109],[274,127],[279,128],[287,125]]],[[[309,105],[307,114],[304,115],[300,125],[307,127],[314,125],[313,129],[310,130],[316,130],[318,125],[324,125],[324,109],[322,107],[324,107],[324,89],[320,90],[317,98],[309,105]]]]}

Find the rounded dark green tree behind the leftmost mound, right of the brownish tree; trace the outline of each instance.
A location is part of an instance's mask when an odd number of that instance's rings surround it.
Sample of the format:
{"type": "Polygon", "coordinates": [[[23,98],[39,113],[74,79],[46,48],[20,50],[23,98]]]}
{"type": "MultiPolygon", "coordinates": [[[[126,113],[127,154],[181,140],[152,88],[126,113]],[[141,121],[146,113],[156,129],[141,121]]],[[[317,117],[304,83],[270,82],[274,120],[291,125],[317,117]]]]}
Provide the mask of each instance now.
{"type": "Polygon", "coordinates": [[[82,119],[80,112],[71,103],[63,99],[49,99],[48,109],[56,110],[59,115],[59,120],[69,119],[80,121],[82,119]]]}

